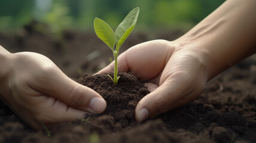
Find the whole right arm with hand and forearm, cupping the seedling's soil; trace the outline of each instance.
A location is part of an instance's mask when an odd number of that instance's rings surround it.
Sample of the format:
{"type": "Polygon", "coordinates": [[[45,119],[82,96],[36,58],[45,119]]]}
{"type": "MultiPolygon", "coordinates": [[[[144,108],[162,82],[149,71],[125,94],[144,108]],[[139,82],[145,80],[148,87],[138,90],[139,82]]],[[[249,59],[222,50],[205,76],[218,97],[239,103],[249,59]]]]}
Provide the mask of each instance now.
{"type": "MultiPolygon", "coordinates": [[[[256,52],[256,1],[228,0],[175,41],[141,43],[118,57],[151,93],[139,101],[141,122],[197,98],[206,83],[256,52]]],[[[98,73],[113,71],[114,63],[98,73]]],[[[121,77],[120,77],[121,78],[121,77]]]]}

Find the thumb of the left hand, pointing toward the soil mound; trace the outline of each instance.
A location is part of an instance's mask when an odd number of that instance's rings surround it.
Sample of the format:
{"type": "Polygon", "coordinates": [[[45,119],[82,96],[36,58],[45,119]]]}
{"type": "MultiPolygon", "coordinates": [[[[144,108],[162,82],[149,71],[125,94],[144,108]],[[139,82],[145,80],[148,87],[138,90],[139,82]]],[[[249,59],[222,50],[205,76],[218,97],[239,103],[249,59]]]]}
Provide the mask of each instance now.
{"type": "Polygon", "coordinates": [[[45,86],[37,87],[42,93],[90,113],[102,113],[105,110],[106,101],[93,89],[75,82],[59,69],[48,73],[47,80],[41,80],[45,86]]]}

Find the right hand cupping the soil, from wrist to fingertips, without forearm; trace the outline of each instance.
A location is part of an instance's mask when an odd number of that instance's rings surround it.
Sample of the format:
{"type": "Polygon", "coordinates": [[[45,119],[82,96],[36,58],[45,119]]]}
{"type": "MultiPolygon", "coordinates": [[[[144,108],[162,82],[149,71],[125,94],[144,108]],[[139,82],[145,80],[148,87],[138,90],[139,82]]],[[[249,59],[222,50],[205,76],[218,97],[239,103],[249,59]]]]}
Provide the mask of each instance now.
{"type": "MultiPolygon", "coordinates": [[[[205,57],[195,46],[155,40],[135,45],[118,57],[118,70],[132,72],[151,92],[139,101],[136,120],[155,117],[200,95],[208,79],[205,57]]],[[[113,70],[112,62],[97,74],[113,70]]]]}

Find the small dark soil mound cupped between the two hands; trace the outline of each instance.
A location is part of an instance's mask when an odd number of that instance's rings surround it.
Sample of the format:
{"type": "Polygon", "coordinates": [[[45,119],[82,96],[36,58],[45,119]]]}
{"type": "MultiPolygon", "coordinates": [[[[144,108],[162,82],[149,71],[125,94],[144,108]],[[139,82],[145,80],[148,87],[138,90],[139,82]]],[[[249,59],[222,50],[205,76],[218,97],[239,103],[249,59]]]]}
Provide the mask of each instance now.
{"type": "MultiPolygon", "coordinates": [[[[135,121],[135,107],[142,97],[149,93],[148,89],[142,85],[135,76],[127,73],[118,73],[121,78],[118,80],[118,85],[110,79],[114,73],[96,74],[89,76],[85,74],[78,80],[78,83],[92,88],[98,92],[106,100],[108,105],[103,114],[99,116],[108,116],[110,120],[114,119],[119,127],[127,128],[129,126],[136,126],[138,122],[135,121]]],[[[90,117],[97,117],[92,115],[90,117]]]]}

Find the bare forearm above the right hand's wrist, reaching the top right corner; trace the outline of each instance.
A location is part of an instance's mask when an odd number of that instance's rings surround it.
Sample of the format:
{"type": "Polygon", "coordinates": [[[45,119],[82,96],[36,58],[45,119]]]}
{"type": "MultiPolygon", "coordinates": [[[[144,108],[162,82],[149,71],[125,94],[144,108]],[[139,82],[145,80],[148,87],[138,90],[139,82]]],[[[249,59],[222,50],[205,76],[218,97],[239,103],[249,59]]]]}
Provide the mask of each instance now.
{"type": "Polygon", "coordinates": [[[177,39],[205,54],[208,80],[256,52],[255,0],[228,0],[177,39]]]}

